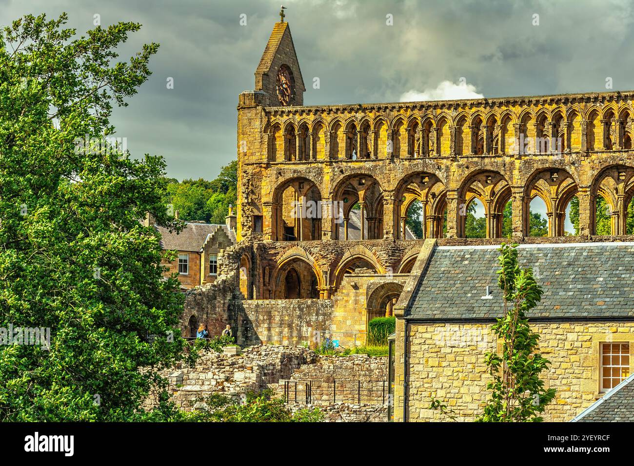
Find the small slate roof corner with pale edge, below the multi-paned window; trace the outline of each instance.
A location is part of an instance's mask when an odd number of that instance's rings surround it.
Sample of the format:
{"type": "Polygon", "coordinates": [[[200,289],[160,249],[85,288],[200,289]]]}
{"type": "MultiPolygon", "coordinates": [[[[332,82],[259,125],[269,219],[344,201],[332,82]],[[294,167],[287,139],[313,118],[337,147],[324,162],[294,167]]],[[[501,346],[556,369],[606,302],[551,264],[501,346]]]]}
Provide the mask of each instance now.
{"type": "Polygon", "coordinates": [[[634,374],[590,405],[572,422],[634,422],[634,374]]]}

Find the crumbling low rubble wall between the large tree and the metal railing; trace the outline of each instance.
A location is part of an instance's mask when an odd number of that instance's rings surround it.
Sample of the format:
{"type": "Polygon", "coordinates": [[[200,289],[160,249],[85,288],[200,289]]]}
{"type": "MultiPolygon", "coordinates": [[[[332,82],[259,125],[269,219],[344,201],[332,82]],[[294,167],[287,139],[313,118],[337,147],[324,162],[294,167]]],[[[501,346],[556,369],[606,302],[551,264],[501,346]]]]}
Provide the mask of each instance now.
{"type": "MultiPolygon", "coordinates": [[[[195,367],[179,363],[161,375],[169,380],[168,389],[176,406],[190,411],[197,398],[212,393],[239,397],[260,392],[269,384],[288,379],[301,365],[316,360],[316,354],[303,347],[253,346],[234,356],[209,352],[198,359],[195,367]]],[[[145,406],[151,408],[156,403],[157,396],[153,394],[145,406]]]]}

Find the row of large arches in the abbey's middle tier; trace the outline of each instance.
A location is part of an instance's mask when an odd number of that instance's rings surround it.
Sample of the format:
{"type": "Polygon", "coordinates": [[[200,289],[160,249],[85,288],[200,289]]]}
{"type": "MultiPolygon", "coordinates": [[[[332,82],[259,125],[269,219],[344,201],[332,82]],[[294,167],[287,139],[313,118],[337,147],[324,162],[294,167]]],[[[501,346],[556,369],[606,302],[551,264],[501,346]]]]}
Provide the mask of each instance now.
{"type": "MultiPolygon", "coordinates": [[[[630,204],[634,169],[614,165],[595,178],[590,190],[591,234],[634,233],[630,204]],[[607,213],[606,213],[607,212],[607,213]],[[606,219],[606,215],[607,218],[606,219]],[[606,225],[609,225],[609,229],[606,225]],[[609,231],[608,231],[609,230],[609,231]]],[[[322,202],[313,181],[297,178],[276,190],[272,205],[271,239],[320,240],[325,227],[335,240],[374,240],[384,236],[385,207],[394,208],[394,236],[443,238],[447,231],[446,189],[436,175],[419,172],[401,180],[393,205],[385,203],[376,179],[355,174],[339,183],[333,201],[322,202]]],[[[543,169],[524,188],[521,212],[523,236],[576,235],[579,231],[578,184],[564,169],[543,169]]],[[[512,233],[512,190],[505,177],[481,171],[462,183],[456,231],[459,237],[501,238],[512,233]]]]}

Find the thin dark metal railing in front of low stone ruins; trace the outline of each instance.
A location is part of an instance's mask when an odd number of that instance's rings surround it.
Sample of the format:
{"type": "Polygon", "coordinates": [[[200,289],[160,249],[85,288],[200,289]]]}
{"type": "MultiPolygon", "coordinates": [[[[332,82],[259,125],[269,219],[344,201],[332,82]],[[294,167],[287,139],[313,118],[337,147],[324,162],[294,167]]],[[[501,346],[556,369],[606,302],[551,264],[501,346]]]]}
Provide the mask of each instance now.
{"type": "Polygon", "coordinates": [[[285,380],[285,403],[385,405],[387,380],[285,380]]]}

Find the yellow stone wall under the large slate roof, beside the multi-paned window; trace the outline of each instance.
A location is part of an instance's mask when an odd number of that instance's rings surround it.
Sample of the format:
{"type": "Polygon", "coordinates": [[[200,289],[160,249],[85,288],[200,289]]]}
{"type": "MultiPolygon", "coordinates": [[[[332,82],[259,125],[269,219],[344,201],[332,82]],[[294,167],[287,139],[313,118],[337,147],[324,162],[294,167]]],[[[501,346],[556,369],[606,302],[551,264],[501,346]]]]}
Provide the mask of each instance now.
{"type": "MultiPolygon", "coordinates": [[[[539,351],[552,363],[544,372],[545,387],[557,390],[544,420],[566,422],[602,394],[602,342],[630,342],[630,373],[634,368],[634,323],[533,323],[540,334],[539,351]]],[[[431,398],[446,403],[461,420],[474,420],[488,398],[490,377],[484,353],[495,349],[491,325],[413,324],[408,330],[408,421],[448,420],[429,410],[431,398]]],[[[397,320],[395,420],[403,418],[403,320],[397,320]],[[399,345],[399,342],[401,344],[399,345]]],[[[498,343],[498,352],[500,344],[498,343]]]]}

